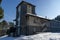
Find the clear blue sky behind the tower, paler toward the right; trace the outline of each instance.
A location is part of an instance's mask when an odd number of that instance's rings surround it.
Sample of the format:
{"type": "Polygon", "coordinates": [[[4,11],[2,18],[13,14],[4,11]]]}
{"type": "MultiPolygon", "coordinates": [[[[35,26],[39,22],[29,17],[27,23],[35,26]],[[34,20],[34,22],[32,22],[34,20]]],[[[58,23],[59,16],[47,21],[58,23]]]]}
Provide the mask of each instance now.
{"type": "MultiPolygon", "coordinates": [[[[4,9],[4,19],[13,21],[16,18],[16,6],[22,0],[3,0],[2,8],[4,9]]],[[[49,19],[60,15],[60,0],[24,0],[36,6],[36,14],[47,16],[49,19]]]]}

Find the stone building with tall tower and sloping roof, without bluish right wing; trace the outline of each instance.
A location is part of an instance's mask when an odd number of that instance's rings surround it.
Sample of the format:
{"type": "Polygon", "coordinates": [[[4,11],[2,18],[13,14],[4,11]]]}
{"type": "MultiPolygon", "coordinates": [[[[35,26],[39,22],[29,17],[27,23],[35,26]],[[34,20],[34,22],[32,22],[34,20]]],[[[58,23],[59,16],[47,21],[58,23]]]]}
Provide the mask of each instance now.
{"type": "Polygon", "coordinates": [[[35,5],[22,1],[16,9],[17,35],[32,35],[39,32],[46,32],[50,20],[37,16],[35,5]]]}

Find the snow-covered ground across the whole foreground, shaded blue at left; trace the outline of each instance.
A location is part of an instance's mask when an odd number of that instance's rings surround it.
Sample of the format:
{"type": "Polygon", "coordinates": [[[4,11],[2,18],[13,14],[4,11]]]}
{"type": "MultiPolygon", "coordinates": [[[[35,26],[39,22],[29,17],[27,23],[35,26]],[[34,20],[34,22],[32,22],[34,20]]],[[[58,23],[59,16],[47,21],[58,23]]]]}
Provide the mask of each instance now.
{"type": "Polygon", "coordinates": [[[0,40],[60,40],[60,33],[40,33],[21,37],[7,37],[5,35],[0,37],[0,40]]]}

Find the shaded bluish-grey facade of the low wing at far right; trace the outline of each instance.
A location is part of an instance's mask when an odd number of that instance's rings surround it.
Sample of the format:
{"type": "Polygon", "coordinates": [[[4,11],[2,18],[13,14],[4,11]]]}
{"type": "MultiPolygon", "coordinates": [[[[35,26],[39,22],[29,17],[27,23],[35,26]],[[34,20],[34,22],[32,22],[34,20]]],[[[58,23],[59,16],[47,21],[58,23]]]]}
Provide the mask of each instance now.
{"type": "Polygon", "coordinates": [[[48,32],[60,32],[60,21],[50,20],[48,26],[48,32]]]}

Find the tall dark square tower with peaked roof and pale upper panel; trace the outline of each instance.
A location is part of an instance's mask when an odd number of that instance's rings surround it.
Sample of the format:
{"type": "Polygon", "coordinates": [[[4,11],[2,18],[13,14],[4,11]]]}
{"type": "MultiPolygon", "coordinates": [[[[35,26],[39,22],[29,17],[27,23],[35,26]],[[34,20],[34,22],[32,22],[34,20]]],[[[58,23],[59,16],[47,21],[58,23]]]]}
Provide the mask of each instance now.
{"type": "Polygon", "coordinates": [[[17,35],[27,35],[27,20],[26,20],[26,14],[33,14],[36,15],[35,13],[35,6],[22,1],[20,4],[18,4],[18,6],[16,7],[16,32],[17,35]]]}

